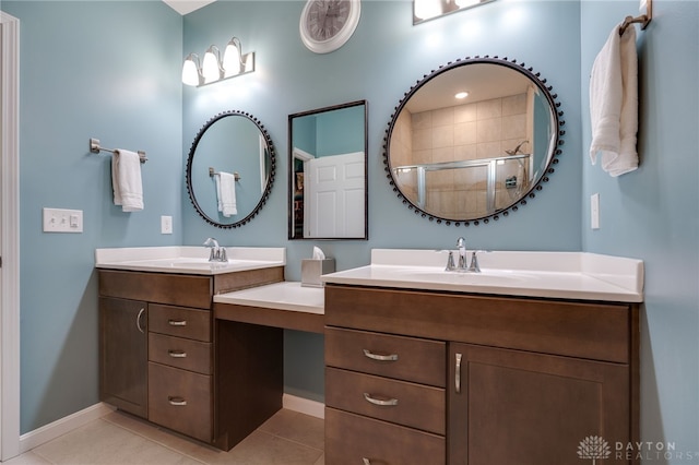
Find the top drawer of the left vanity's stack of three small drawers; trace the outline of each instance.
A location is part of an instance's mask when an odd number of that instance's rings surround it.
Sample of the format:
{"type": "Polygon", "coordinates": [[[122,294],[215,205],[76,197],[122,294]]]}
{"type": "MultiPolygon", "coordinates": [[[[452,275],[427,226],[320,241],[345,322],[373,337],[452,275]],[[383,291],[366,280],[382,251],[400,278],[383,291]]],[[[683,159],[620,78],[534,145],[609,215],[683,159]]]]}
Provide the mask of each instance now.
{"type": "Polygon", "coordinates": [[[149,308],[149,331],[209,343],[211,311],[152,303],[149,308]]]}

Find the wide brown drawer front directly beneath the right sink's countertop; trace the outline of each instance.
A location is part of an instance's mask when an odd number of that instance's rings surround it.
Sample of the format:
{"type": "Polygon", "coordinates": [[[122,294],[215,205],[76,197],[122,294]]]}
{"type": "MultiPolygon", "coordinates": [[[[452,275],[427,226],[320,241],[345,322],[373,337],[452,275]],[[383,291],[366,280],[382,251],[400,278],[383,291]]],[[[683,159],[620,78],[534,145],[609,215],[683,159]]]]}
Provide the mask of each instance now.
{"type": "Polygon", "coordinates": [[[325,324],[628,363],[628,303],[325,286],[325,324]]]}

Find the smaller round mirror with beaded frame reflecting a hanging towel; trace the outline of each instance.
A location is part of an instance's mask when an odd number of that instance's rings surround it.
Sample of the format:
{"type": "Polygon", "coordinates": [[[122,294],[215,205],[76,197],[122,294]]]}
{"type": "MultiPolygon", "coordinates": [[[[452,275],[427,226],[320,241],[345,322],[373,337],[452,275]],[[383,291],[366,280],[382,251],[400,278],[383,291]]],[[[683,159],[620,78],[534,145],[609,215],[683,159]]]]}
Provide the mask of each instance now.
{"type": "Polygon", "coordinates": [[[225,111],[199,131],[187,160],[187,191],[210,224],[235,228],[266,201],[274,180],[274,146],[251,115],[225,111]]]}

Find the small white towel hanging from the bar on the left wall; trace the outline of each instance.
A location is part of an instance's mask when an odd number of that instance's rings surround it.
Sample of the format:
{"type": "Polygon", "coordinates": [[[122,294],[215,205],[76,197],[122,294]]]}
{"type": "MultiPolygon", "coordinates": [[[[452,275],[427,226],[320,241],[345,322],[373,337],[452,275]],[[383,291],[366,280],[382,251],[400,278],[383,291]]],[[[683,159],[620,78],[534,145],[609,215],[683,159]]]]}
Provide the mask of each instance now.
{"type": "Polygon", "coordinates": [[[111,186],[114,204],[125,212],[143,210],[141,157],[134,152],[118,148],[111,156],[111,186]]]}

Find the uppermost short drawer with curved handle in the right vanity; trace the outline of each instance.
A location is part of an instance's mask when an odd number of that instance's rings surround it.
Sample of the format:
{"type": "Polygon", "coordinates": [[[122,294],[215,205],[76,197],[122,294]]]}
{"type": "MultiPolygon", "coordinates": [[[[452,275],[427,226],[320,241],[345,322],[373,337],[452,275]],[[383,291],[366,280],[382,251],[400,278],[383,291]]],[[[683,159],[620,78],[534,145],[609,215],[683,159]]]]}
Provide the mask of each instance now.
{"type": "Polygon", "coordinates": [[[440,341],[325,329],[325,365],[445,388],[447,345],[440,341]]]}

